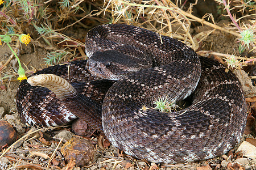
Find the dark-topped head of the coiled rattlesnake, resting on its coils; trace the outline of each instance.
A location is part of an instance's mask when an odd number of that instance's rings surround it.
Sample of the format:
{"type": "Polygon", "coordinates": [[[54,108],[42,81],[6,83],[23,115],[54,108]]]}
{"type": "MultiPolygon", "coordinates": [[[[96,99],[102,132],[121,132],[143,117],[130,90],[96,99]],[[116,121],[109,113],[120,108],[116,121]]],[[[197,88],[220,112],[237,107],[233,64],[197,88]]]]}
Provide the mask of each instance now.
{"type": "Polygon", "coordinates": [[[86,63],[86,69],[94,76],[109,80],[119,80],[130,73],[145,69],[138,58],[115,50],[94,52],[86,63]]]}

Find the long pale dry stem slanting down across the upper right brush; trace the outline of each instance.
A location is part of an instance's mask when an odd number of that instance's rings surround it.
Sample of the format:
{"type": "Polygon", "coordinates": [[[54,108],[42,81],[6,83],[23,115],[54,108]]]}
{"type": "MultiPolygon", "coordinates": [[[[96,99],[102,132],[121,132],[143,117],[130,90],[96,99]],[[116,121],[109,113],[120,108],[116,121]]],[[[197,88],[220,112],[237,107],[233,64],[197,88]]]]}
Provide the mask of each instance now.
{"type": "Polygon", "coordinates": [[[174,11],[174,12],[177,12],[178,14],[181,14],[183,15],[184,17],[188,17],[188,18],[191,18],[191,19],[194,19],[196,20],[197,22],[201,23],[201,24],[205,24],[205,25],[208,25],[209,27],[212,27],[214,29],[218,29],[220,31],[224,31],[224,32],[228,32],[228,33],[231,33],[237,37],[242,37],[239,33],[237,32],[234,32],[234,31],[231,31],[229,29],[226,29],[226,28],[222,28],[218,25],[215,25],[215,24],[212,24],[212,23],[209,23],[207,21],[205,21],[204,19],[201,19],[201,18],[197,18],[196,16],[192,15],[192,14],[189,14],[188,12],[185,12],[183,10],[180,10],[179,7],[177,7],[174,3],[170,2],[170,5],[172,7],[166,7],[166,6],[158,6],[158,5],[141,5],[141,4],[137,4],[137,3],[129,3],[129,2],[125,2],[125,1],[119,1],[119,2],[122,2],[123,4],[126,4],[126,5],[129,5],[129,6],[137,6],[137,7],[151,7],[151,8],[159,8],[159,9],[166,9],[166,10],[170,10],[170,11],[174,11]],[[177,8],[178,10],[175,10],[175,8],[177,8]]]}

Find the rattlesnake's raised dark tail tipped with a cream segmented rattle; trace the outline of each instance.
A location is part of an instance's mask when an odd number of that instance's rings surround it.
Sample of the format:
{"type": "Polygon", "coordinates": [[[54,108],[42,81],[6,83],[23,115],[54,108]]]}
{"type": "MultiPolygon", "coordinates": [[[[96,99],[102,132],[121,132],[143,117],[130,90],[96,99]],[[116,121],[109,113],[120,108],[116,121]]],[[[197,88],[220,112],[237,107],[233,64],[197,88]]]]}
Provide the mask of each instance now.
{"type": "Polygon", "coordinates": [[[69,111],[92,126],[92,128],[103,131],[100,105],[89,97],[79,94],[67,80],[54,74],[40,74],[31,76],[27,79],[27,82],[31,86],[48,88],[63,101],[69,111]]]}

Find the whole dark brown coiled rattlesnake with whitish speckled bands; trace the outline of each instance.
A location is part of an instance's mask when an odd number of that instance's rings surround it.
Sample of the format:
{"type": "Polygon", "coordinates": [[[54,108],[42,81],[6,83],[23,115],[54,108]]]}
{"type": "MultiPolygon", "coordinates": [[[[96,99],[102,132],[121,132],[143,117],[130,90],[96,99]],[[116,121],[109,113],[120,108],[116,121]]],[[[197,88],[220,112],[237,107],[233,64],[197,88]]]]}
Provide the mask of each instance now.
{"type": "Polygon", "coordinates": [[[180,41],[124,24],[91,29],[85,52],[87,62],[48,67],[28,78],[33,86],[20,84],[16,105],[23,122],[57,126],[79,117],[126,154],[154,163],[209,159],[240,142],[245,96],[221,63],[197,56],[180,41]],[[49,82],[40,83],[42,77],[49,82]],[[152,104],[159,96],[189,96],[192,104],[159,112],[152,104]]]}

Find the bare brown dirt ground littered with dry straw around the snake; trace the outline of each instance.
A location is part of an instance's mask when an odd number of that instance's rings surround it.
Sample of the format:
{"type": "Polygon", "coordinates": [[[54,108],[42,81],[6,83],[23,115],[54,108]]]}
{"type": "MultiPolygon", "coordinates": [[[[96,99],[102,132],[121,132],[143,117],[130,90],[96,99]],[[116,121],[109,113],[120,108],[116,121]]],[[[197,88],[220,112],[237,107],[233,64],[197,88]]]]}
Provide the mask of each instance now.
{"type": "MultiPolygon", "coordinates": [[[[201,32],[203,29],[205,30],[207,29],[207,27],[196,27],[193,29],[193,32],[194,34],[196,34],[198,32],[201,32]]],[[[77,36],[78,39],[83,39],[85,33],[84,35],[79,35],[78,32],[79,31],[77,30],[69,29],[69,31],[66,33],[73,33],[73,35],[77,36]]],[[[22,63],[24,63],[24,65],[26,65],[25,70],[28,73],[27,75],[31,74],[33,71],[47,67],[45,65],[44,58],[46,58],[46,54],[48,52],[51,52],[51,49],[46,49],[43,47],[43,45],[33,45],[33,41],[35,42],[36,40],[32,40],[32,43],[28,44],[27,46],[22,44],[22,48],[20,48],[19,51],[20,60],[22,61],[22,63]]],[[[217,53],[232,54],[234,52],[234,49],[238,48],[238,44],[236,43],[236,41],[236,37],[229,35],[228,33],[215,31],[210,36],[208,36],[206,40],[200,43],[199,50],[212,50],[213,52],[217,53]]],[[[43,41],[39,42],[42,44],[44,43],[43,41]]],[[[2,45],[0,49],[1,66],[11,56],[11,50],[6,45],[2,45]]],[[[18,64],[16,60],[13,58],[5,68],[5,71],[9,72],[9,75],[13,75],[13,73],[16,72],[16,70],[18,70],[18,64]]],[[[3,76],[5,75],[2,74],[1,77],[3,76]]],[[[241,81],[245,82],[247,80],[243,79],[241,81]]],[[[2,88],[2,90],[0,90],[0,117],[2,118],[2,120],[8,120],[11,123],[11,125],[14,126],[15,130],[18,132],[19,139],[22,138],[24,134],[26,134],[27,131],[30,130],[30,128],[22,124],[19,115],[16,111],[15,102],[16,91],[18,86],[19,81],[16,80],[16,78],[14,77],[10,77],[10,79],[5,79],[5,81],[0,82],[0,87],[2,88]]],[[[245,90],[248,94],[246,97],[255,97],[255,86],[253,87],[252,84],[250,83],[249,85],[247,84],[247,87],[249,87],[249,90],[245,90]]],[[[252,106],[255,104],[249,103],[249,105],[252,106]]],[[[250,112],[255,112],[255,110],[250,112]]],[[[252,124],[248,125],[247,129],[252,128],[252,126],[252,124]]],[[[32,130],[35,131],[35,129],[32,130]]],[[[31,134],[28,136],[28,138],[25,138],[22,141],[20,141],[18,144],[15,145],[15,147],[11,148],[9,152],[3,155],[3,157],[0,159],[0,169],[46,169],[47,164],[49,162],[49,158],[44,158],[43,155],[53,155],[52,160],[54,161],[52,161],[52,168],[50,169],[60,169],[65,166],[67,167],[67,165],[72,167],[70,163],[68,164],[68,162],[64,161],[64,156],[60,153],[60,147],[63,146],[63,144],[67,142],[68,139],[70,139],[73,135],[74,134],[72,133],[71,126],[65,128],[57,128],[53,130],[47,129],[44,130],[43,134],[31,134]],[[64,136],[58,136],[60,132],[62,132],[61,134],[64,134],[64,136]],[[60,137],[63,137],[64,139],[63,141],[61,141],[60,146],[57,147],[57,145],[60,142],[60,137]],[[48,143],[47,145],[47,142],[43,142],[43,140],[46,140],[50,143],[48,143]],[[54,154],[53,151],[55,151],[54,154]],[[41,153],[42,155],[40,155],[39,153],[41,153]]],[[[255,134],[251,132],[249,135],[246,135],[246,137],[255,138],[255,134]]],[[[93,137],[92,144],[94,147],[96,147],[96,143],[97,138],[93,137]]],[[[233,153],[235,152],[236,151],[233,151],[233,153]]],[[[229,156],[228,154],[226,155],[229,156]]],[[[236,155],[232,159],[230,159],[230,162],[233,163],[234,160],[236,160],[237,158],[243,157],[236,155]]],[[[225,156],[222,156],[222,158],[214,158],[196,163],[170,165],[169,167],[167,165],[158,165],[158,167],[160,169],[210,169],[210,167],[212,167],[213,169],[227,169],[228,164],[226,164],[225,166],[225,162],[223,163],[224,160],[226,161],[225,156]]],[[[129,156],[118,156],[117,150],[112,146],[109,146],[104,151],[101,151],[99,148],[96,148],[96,155],[94,156],[94,161],[90,165],[84,168],[75,166],[74,169],[125,169],[125,167],[127,169],[138,169],[138,167],[140,167],[141,169],[157,169],[154,166],[155,164],[148,164],[143,161],[134,162],[133,158],[130,158],[129,156]]],[[[250,162],[249,164],[242,165],[242,167],[244,169],[255,169],[255,162],[250,162]]]]}

